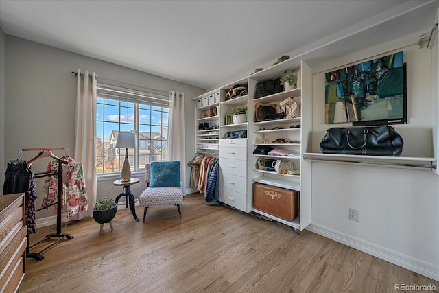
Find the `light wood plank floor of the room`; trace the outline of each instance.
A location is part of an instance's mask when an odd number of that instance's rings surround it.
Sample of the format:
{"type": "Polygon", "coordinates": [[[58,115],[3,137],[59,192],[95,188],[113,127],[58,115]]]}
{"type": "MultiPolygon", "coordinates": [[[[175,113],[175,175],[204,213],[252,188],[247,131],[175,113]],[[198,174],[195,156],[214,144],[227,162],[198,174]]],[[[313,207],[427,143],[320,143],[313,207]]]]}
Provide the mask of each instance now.
{"type": "MultiPolygon", "coordinates": [[[[309,231],[205,204],[200,194],[181,207],[181,219],[176,207],[151,207],[146,223],[119,210],[114,230],[105,224],[102,235],[93,219],[62,228],[74,239],[43,261],[27,259],[19,292],[395,292],[399,283],[439,290],[437,281],[309,231]]],[[[31,242],[53,229],[38,228],[31,242]]]]}

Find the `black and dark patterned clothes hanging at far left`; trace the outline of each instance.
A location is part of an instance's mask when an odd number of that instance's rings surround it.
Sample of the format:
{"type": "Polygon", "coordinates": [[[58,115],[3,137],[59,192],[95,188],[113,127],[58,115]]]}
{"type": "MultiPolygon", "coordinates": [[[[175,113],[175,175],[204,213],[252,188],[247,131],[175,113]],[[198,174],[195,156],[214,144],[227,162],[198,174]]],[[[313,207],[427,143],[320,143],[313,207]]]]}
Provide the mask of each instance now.
{"type": "Polygon", "coordinates": [[[26,214],[25,222],[27,225],[27,234],[36,233],[35,225],[35,176],[32,170],[27,167],[26,161],[19,163],[8,163],[5,172],[5,182],[3,184],[3,194],[25,193],[26,214]]]}

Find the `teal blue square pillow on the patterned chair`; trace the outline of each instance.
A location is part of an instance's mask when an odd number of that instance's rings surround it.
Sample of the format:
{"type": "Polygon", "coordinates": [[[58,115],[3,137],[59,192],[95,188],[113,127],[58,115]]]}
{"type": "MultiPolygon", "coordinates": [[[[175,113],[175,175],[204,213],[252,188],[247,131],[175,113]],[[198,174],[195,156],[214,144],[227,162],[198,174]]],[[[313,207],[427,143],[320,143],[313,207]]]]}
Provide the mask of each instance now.
{"type": "Polygon", "coordinates": [[[150,187],[181,187],[180,161],[165,161],[151,163],[150,187]]]}

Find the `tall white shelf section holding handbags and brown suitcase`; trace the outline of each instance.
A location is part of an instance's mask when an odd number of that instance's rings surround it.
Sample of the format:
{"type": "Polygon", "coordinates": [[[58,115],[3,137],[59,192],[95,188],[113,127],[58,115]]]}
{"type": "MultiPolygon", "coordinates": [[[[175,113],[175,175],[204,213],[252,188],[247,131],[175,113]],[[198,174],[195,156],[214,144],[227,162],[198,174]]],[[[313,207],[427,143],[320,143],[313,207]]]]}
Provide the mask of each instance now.
{"type": "Polygon", "coordinates": [[[298,191],[299,194],[299,215],[292,221],[283,220],[258,209],[254,209],[252,200],[248,201],[248,206],[252,213],[263,215],[265,218],[276,220],[288,226],[292,226],[298,230],[303,230],[311,222],[311,164],[305,162],[302,158],[303,152],[308,148],[309,132],[311,131],[311,67],[300,59],[289,59],[278,65],[274,65],[263,71],[259,71],[249,77],[249,91],[250,97],[254,97],[254,89],[257,82],[272,80],[280,78],[285,69],[299,69],[300,68],[300,84],[296,89],[290,91],[283,91],[274,95],[260,97],[259,99],[249,99],[248,116],[254,117],[254,105],[261,104],[278,104],[288,97],[294,97],[301,108],[301,117],[293,119],[278,119],[273,121],[254,122],[254,119],[249,119],[249,142],[252,145],[248,148],[250,158],[248,159],[248,174],[251,174],[248,179],[248,189],[252,190],[253,183],[263,183],[266,185],[273,185],[285,189],[298,191]],[[292,141],[293,143],[277,143],[279,139],[292,141]],[[267,143],[258,143],[258,141],[268,141],[267,143]],[[268,145],[272,147],[284,148],[288,151],[289,156],[265,156],[259,154],[252,154],[254,148],[258,145],[268,145]],[[257,159],[280,159],[281,161],[292,160],[298,174],[277,174],[277,172],[261,170],[255,168],[257,159]]]}

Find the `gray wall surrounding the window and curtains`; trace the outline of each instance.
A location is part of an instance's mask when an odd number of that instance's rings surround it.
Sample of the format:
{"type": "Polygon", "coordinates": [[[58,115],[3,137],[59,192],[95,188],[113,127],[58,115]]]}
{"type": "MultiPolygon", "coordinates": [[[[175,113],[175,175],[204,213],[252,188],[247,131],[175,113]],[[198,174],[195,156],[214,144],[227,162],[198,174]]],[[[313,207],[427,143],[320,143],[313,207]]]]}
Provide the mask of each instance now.
{"type": "MultiPolygon", "coordinates": [[[[204,89],[10,35],[6,35],[5,41],[7,75],[4,79],[6,84],[5,159],[0,162],[2,168],[10,159],[16,158],[16,149],[19,148],[66,147],[69,148],[69,154],[73,156],[76,77],[71,71],[76,71],[78,68],[95,71],[98,78],[117,80],[161,91],[184,92],[185,124],[190,125],[188,130],[193,130],[194,107],[190,98],[204,93],[204,89]]],[[[186,138],[186,159],[191,161],[195,150],[193,131],[187,132],[186,138]]],[[[22,158],[31,159],[36,154],[38,152],[23,153],[22,158]]],[[[64,151],[54,151],[54,154],[62,156],[64,151]]],[[[49,161],[49,159],[38,160],[32,165],[32,169],[34,172],[44,170],[49,161]]],[[[182,162],[182,164],[185,165],[185,171],[189,174],[187,162],[182,162]]],[[[133,177],[143,178],[143,174],[133,174],[133,177]]],[[[99,179],[97,198],[105,196],[115,198],[117,194],[120,194],[121,187],[113,188],[112,185],[112,181],[117,179],[117,176],[99,179]]],[[[36,201],[37,207],[40,207],[43,198],[41,191],[43,180],[44,178],[37,179],[36,183],[39,194],[36,201]]],[[[185,182],[189,186],[189,176],[185,182]]],[[[143,189],[145,189],[143,182],[132,186],[133,194],[140,194],[143,189]]],[[[54,213],[40,211],[37,219],[49,215],[54,215],[54,213]]]]}

